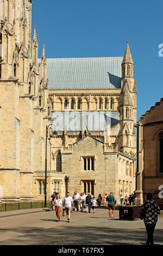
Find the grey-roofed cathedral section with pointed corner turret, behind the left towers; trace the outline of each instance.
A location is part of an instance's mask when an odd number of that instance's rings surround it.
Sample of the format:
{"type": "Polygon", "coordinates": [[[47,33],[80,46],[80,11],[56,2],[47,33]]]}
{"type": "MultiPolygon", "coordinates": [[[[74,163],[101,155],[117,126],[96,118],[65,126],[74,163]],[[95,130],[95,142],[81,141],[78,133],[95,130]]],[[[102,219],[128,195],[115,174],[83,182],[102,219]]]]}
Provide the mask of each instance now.
{"type": "Polygon", "coordinates": [[[71,194],[112,191],[118,199],[135,190],[133,72],[128,42],[124,57],[47,59],[51,169],[68,176],[71,194]]]}

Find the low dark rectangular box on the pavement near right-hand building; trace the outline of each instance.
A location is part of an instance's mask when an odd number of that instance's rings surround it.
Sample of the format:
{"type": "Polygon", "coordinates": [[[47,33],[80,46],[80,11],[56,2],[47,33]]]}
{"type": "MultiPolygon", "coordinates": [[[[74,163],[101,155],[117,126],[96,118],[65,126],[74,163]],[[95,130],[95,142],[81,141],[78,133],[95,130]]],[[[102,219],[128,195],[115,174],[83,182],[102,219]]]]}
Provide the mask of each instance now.
{"type": "Polygon", "coordinates": [[[141,206],[119,206],[120,220],[135,221],[140,218],[141,206]]]}

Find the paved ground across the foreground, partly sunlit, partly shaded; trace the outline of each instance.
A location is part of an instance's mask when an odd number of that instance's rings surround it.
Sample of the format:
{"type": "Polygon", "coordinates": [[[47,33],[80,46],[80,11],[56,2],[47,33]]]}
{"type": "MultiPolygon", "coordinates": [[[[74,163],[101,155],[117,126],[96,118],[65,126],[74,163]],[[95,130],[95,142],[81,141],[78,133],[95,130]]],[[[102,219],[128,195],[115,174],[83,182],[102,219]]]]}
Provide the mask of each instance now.
{"type": "MultiPolygon", "coordinates": [[[[72,213],[70,223],[56,221],[55,212],[6,216],[0,218],[0,245],[145,245],[143,221],[120,221],[118,210],[109,220],[108,210],[96,214],[72,213]]],[[[163,217],[154,233],[155,245],[163,245],[163,217]]]]}

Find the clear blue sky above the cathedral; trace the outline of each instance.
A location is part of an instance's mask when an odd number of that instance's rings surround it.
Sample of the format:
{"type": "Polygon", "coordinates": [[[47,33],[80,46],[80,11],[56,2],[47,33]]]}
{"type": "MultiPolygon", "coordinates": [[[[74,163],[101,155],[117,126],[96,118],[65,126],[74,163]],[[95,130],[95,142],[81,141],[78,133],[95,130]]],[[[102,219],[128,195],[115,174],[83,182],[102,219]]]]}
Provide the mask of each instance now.
{"type": "Polygon", "coordinates": [[[39,57],[123,56],[126,41],[137,80],[137,119],[163,97],[161,0],[34,0],[39,57]]]}

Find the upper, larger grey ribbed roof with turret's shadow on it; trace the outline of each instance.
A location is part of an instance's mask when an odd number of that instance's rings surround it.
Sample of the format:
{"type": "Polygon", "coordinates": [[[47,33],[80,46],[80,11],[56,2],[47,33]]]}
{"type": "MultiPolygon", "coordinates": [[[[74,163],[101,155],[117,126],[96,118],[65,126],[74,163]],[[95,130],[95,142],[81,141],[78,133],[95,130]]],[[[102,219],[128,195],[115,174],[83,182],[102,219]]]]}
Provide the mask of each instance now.
{"type": "Polygon", "coordinates": [[[47,59],[49,89],[121,88],[123,57],[47,59]]]}

